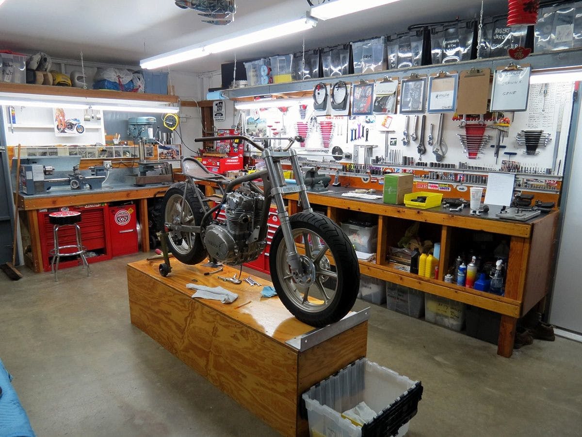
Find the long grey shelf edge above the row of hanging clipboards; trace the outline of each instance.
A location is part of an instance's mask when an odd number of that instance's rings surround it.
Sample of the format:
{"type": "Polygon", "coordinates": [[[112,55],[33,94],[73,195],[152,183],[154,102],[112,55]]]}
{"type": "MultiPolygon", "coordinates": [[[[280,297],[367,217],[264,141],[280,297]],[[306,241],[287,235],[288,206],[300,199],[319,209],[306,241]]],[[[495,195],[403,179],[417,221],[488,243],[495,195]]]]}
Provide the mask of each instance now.
{"type": "MultiPolygon", "coordinates": [[[[555,69],[560,67],[578,66],[582,63],[580,61],[581,56],[582,56],[581,49],[570,49],[551,53],[531,54],[526,58],[525,62],[531,64],[531,68],[533,70],[547,68],[555,69]]],[[[480,69],[490,68],[491,71],[495,71],[495,69],[498,66],[507,66],[509,62],[514,62],[514,60],[509,57],[474,59],[473,61],[462,61],[456,62],[455,64],[426,65],[420,67],[410,67],[376,73],[368,73],[365,75],[359,74],[337,77],[321,77],[315,79],[307,79],[298,82],[250,86],[233,90],[225,90],[224,93],[229,98],[244,98],[281,93],[307,93],[307,92],[311,93],[311,91],[313,91],[313,87],[320,82],[335,83],[338,82],[339,80],[342,80],[348,83],[349,82],[355,83],[359,82],[360,79],[377,80],[383,79],[385,76],[400,78],[403,76],[409,76],[411,72],[418,73],[419,75],[420,74],[431,75],[434,73],[438,73],[442,70],[460,71],[468,70],[470,68],[480,68],[480,69]]]]}

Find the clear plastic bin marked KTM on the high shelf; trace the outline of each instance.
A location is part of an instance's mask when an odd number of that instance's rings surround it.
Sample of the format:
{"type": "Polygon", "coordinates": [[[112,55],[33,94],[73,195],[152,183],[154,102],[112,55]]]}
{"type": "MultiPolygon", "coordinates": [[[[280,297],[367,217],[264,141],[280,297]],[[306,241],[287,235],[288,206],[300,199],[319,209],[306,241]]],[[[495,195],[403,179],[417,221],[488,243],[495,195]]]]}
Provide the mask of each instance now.
{"type": "Polygon", "coordinates": [[[470,61],[473,59],[475,39],[474,21],[433,27],[431,29],[432,64],[470,61]]]}

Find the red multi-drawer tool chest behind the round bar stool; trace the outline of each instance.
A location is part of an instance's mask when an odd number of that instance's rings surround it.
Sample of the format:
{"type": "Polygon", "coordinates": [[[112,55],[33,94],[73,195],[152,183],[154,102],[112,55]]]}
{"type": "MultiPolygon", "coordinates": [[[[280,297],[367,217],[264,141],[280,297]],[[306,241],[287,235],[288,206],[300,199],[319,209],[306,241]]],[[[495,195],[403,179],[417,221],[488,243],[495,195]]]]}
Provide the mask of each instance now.
{"type": "MultiPolygon", "coordinates": [[[[81,213],[81,240],[87,251],[95,252],[97,256],[87,256],[87,262],[94,263],[111,259],[111,246],[109,242],[109,227],[107,225],[107,205],[85,205],[69,206],[63,208],[48,209],[38,212],[38,230],[41,242],[42,268],[45,272],[51,271],[52,257],[49,251],[54,249],[55,241],[52,234],[52,224],[49,222],[48,214],[59,211],[70,210],[81,213]]],[[[62,227],[59,230],[59,246],[76,244],[75,231],[73,227],[62,227]]],[[[74,249],[69,249],[73,252],[74,249]]],[[[59,269],[80,265],[78,256],[67,260],[62,258],[59,261],[59,269]]]]}

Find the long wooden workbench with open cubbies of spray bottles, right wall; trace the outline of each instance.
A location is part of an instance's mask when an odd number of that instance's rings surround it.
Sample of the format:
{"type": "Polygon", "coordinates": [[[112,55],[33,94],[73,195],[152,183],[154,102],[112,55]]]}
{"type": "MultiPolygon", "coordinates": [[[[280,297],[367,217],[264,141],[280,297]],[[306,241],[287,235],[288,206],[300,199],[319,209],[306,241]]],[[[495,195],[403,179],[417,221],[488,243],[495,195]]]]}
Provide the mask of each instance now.
{"type": "MultiPolygon", "coordinates": [[[[362,274],[415,288],[454,301],[463,302],[501,314],[498,354],[510,357],[517,319],[525,315],[546,295],[551,277],[555,231],[558,211],[541,214],[527,222],[501,220],[495,213],[501,207],[490,206],[484,216],[471,216],[470,209],[449,212],[441,206],[432,209],[416,209],[404,205],[386,205],[382,199],[360,200],[342,197],[351,191],[346,188],[332,188],[329,193],[309,193],[312,206],[327,213],[336,223],[354,217],[354,213],[369,213],[377,219],[378,244],[375,262],[360,261],[362,274]],[[425,235],[434,242],[441,242],[439,277],[428,279],[418,274],[402,272],[389,265],[387,254],[391,246],[396,246],[411,224],[421,223],[425,235]],[[473,288],[445,283],[444,275],[454,265],[455,258],[467,239],[469,232],[487,232],[506,239],[509,245],[509,260],[505,282],[505,295],[498,296],[473,288]]],[[[379,193],[381,194],[381,192],[379,193]]],[[[286,196],[289,200],[289,214],[300,210],[297,194],[286,196]]]]}

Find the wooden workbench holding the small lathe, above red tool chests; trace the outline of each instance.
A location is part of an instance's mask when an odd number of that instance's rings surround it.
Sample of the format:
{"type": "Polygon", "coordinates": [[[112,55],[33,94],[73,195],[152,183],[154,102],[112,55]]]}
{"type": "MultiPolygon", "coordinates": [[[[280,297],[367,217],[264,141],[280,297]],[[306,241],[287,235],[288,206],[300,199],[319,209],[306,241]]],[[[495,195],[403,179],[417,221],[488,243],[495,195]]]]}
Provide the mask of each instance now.
{"type": "MultiPolygon", "coordinates": [[[[130,184],[112,184],[109,188],[71,190],[68,187],[52,188],[49,192],[38,195],[20,193],[18,208],[22,230],[28,231],[30,238],[30,255],[24,256],[24,262],[34,272],[42,272],[42,252],[38,212],[48,208],[62,208],[77,205],[95,205],[109,202],[136,200],[139,223],[141,224],[141,249],[150,251],[150,234],[148,230],[147,199],[165,193],[169,184],[135,186],[130,184]]],[[[23,232],[24,234],[24,232],[23,232]]],[[[23,237],[23,239],[26,239],[23,237]]],[[[23,244],[26,246],[25,244],[23,244]]]]}

